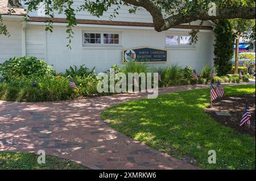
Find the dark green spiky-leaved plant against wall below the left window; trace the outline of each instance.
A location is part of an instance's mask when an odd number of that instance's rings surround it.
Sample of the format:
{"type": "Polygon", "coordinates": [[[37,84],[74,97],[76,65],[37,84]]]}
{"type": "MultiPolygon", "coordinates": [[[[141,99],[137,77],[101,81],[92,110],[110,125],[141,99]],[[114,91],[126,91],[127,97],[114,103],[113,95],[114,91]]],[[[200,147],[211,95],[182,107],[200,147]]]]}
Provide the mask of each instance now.
{"type": "Polygon", "coordinates": [[[66,69],[65,76],[68,77],[75,77],[75,76],[86,76],[88,77],[89,75],[94,75],[95,74],[95,67],[92,70],[89,70],[86,68],[85,65],[81,65],[80,68],[78,69],[76,65],[74,67],[70,66],[69,69],[66,69]]]}

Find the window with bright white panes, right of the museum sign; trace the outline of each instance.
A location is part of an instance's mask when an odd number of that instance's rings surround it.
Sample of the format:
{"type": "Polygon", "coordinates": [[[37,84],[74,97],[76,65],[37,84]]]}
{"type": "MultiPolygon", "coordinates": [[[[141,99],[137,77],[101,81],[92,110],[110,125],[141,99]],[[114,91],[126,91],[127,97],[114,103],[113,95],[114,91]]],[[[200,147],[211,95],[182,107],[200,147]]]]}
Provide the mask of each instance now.
{"type": "Polygon", "coordinates": [[[192,37],[191,36],[180,36],[172,35],[166,36],[166,45],[175,47],[175,46],[192,46],[192,37]]]}

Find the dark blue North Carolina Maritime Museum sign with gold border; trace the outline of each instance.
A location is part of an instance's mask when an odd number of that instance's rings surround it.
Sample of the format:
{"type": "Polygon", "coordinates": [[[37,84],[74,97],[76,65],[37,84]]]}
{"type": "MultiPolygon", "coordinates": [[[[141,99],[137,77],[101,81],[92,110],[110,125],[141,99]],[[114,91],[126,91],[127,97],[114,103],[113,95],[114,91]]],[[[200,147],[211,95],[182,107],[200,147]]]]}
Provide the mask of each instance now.
{"type": "Polygon", "coordinates": [[[166,63],[167,50],[148,47],[125,49],[123,50],[123,64],[127,62],[166,63]]]}

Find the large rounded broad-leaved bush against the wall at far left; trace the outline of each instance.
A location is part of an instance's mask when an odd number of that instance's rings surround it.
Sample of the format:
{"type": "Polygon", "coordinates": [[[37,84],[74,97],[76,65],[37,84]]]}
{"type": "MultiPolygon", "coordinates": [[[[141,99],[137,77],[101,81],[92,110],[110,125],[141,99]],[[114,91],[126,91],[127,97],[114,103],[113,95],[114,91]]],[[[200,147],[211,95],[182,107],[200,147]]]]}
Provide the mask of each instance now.
{"type": "Polygon", "coordinates": [[[36,57],[14,57],[0,66],[0,74],[4,81],[10,81],[22,76],[55,75],[55,71],[46,62],[36,57]]]}

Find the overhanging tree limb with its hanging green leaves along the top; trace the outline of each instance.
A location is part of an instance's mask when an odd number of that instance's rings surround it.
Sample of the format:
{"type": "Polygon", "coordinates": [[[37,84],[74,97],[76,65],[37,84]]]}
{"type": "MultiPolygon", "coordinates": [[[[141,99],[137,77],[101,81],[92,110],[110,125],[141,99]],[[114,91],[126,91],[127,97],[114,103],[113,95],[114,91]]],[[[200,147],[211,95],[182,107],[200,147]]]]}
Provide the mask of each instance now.
{"type": "MultiPolygon", "coordinates": [[[[18,2],[18,0],[9,1],[18,2]]],[[[195,20],[255,19],[254,0],[84,0],[80,1],[81,5],[76,8],[73,6],[75,0],[23,0],[23,2],[27,5],[27,11],[38,10],[40,3],[45,3],[46,15],[49,18],[54,18],[57,13],[64,13],[68,23],[69,42],[72,38],[72,27],[76,26],[77,12],[88,11],[100,17],[110,7],[114,8],[110,19],[118,15],[121,6],[129,6],[130,13],[136,13],[138,9],[143,8],[151,14],[154,28],[158,32],[195,20]],[[209,14],[209,3],[216,5],[216,14],[209,14]]],[[[47,20],[47,23],[47,30],[52,31],[52,20],[47,20]]]]}

